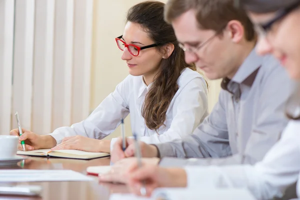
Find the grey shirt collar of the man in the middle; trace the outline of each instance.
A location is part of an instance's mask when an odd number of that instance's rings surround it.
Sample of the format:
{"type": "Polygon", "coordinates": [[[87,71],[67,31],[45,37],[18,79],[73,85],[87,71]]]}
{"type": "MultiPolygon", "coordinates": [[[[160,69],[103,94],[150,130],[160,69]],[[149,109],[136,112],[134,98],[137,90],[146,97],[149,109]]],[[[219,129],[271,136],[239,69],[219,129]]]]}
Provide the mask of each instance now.
{"type": "MultiPolygon", "coordinates": [[[[223,78],[221,87],[228,91],[229,82],[235,82],[238,84],[245,84],[252,86],[259,67],[262,64],[263,57],[256,54],[255,49],[249,53],[243,63],[240,65],[232,79],[227,77],[223,78]]],[[[230,91],[229,91],[230,92],[230,91]]],[[[232,92],[230,92],[232,93],[232,92]]]]}

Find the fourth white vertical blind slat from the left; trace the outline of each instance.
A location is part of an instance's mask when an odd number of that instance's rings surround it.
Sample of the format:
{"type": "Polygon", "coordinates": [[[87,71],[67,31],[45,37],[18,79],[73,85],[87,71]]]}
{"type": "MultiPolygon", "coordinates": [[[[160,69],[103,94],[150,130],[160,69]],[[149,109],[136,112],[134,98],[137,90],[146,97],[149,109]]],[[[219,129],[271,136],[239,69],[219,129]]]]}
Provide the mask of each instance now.
{"type": "Polygon", "coordinates": [[[73,0],[56,0],[52,129],[71,123],[73,0]]]}

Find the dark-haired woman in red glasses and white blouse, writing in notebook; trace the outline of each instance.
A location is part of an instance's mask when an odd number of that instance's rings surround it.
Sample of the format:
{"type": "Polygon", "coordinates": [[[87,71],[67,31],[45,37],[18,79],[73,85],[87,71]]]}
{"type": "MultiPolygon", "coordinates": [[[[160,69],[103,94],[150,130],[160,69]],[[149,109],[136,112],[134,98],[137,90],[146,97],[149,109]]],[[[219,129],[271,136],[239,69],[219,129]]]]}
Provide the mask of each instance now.
{"type": "Polygon", "coordinates": [[[132,133],[145,142],[192,133],[207,115],[207,84],[195,66],[184,61],[172,26],[163,20],[163,7],[162,2],[146,1],[129,9],[123,34],[115,40],[130,75],[85,120],[48,135],[25,130],[20,140],[27,150],[110,152],[116,138],[103,138],[129,113],[132,133]]]}

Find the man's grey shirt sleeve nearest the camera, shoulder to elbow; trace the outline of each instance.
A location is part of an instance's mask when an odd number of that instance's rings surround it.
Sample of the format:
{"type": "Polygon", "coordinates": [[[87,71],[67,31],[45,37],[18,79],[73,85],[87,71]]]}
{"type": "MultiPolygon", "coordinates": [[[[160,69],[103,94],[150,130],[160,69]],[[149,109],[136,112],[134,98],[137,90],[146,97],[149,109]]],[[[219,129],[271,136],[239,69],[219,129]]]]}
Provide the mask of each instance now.
{"type": "Polygon", "coordinates": [[[288,123],[285,115],[286,101],[295,91],[296,85],[281,66],[274,68],[263,81],[258,106],[255,108],[257,118],[253,120],[241,163],[254,164],[262,160],[288,123]]]}

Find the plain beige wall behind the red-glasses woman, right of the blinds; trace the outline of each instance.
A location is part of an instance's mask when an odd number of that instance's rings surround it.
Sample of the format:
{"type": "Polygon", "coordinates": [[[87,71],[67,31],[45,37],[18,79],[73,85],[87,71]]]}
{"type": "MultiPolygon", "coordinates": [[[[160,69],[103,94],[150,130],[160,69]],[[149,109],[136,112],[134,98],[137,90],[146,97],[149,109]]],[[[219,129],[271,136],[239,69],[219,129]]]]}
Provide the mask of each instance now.
{"type": "MultiPolygon", "coordinates": [[[[121,35],[127,9],[142,0],[94,0],[91,111],[114,90],[117,83],[128,74],[127,66],[120,59],[121,51],[114,38],[121,35]]],[[[162,0],[165,2],[166,0],[162,0]]],[[[219,81],[209,82],[209,109],[215,103],[219,81]]],[[[126,134],[131,135],[129,117],[125,119],[126,134]]],[[[109,137],[119,136],[117,128],[109,137]]]]}

